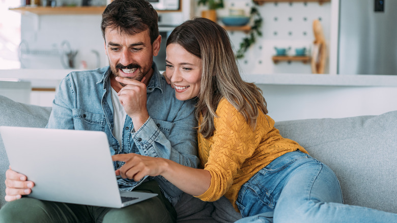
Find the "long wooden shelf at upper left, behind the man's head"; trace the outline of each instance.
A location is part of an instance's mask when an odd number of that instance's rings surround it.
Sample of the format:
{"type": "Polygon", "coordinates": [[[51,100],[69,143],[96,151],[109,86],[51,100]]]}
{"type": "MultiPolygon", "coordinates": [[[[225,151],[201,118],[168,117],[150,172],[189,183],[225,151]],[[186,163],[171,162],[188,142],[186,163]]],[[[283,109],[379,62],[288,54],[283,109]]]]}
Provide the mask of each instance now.
{"type": "MultiPolygon", "coordinates": [[[[10,8],[10,10],[19,13],[33,13],[37,15],[76,15],[76,14],[102,14],[106,6],[76,6],[76,7],[42,7],[42,6],[25,6],[18,8],[10,8]]],[[[164,12],[180,12],[180,10],[167,11],[159,10],[159,13],[164,12]]]]}

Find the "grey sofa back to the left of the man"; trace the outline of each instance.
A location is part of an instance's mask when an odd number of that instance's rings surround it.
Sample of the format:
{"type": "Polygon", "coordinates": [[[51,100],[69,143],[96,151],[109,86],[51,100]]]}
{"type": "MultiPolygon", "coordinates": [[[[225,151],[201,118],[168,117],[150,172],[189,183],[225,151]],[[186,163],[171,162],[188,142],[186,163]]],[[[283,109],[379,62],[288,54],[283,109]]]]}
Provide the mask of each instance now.
{"type": "MultiPolygon", "coordinates": [[[[41,107],[36,105],[15,102],[7,97],[0,95],[0,126],[25,126],[25,127],[45,127],[51,113],[51,107],[41,107]]],[[[21,136],[23,140],[23,136],[21,136]]],[[[9,163],[6,158],[3,140],[0,137],[0,183],[6,180],[6,170],[9,163]]],[[[0,207],[5,203],[6,196],[4,189],[0,190],[0,207]]]]}

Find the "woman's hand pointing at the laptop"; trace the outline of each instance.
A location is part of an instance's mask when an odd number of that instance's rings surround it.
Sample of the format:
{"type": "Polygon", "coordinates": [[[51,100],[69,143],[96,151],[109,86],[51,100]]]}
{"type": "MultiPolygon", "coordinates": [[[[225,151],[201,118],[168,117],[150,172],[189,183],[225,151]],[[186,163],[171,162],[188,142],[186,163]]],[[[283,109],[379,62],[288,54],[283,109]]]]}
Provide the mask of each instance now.
{"type": "Polygon", "coordinates": [[[139,181],[145,176],[152,177],[161,174],[161,166],[166,164],[163,158],[142,156],[135,153],[118,154],[112,156],[113,161],[123,161],[124,165],[116,170],[116,175],[139,181]]]}

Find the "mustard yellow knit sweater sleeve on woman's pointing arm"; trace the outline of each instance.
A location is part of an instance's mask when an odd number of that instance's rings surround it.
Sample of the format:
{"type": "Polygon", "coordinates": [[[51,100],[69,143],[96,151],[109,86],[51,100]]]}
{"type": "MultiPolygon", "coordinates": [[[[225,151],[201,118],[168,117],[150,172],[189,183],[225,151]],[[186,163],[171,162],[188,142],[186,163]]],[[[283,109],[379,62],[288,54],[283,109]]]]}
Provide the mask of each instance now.
{"type": "Polygon", "coordinates": [[[211,185],[197,198],[216,201],[232,186],[242,163],[253,154],[256,134],[238,110],[223,99],[216,110],[215,131],[208,161],[204,166],[211,174],[211,185]]]}

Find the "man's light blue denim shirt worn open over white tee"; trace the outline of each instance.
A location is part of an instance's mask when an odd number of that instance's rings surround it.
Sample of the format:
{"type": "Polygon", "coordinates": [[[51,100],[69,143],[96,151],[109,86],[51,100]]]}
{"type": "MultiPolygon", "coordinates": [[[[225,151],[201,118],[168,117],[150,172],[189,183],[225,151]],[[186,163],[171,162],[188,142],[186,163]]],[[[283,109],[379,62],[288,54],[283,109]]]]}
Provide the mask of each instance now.
{"type": "MultiPolygon", "coordinates": [[[[162,157],[197,168],[197,136],[194,102],[179,101],[174,89],[167,85],[156,65],[147,86],[149,119],[137,131],[127,115],[122,145],[112,134],[113,105],[109,76],[110,68],[69,73],[60,83],[53,100],[47,128],[104,131],[112,155],[137,153],[162,157]]],[[[124,162],[114,162],[115,170],[124,162]]],[[[182,191],[162,176],[148,177],[139,182],[118,179],[120,190],[130,191],[144,180],[156,180],[164,196],[175,205],[182,191]]],[[[95,185],[93,185],[95,186],[95,185]]]]}

